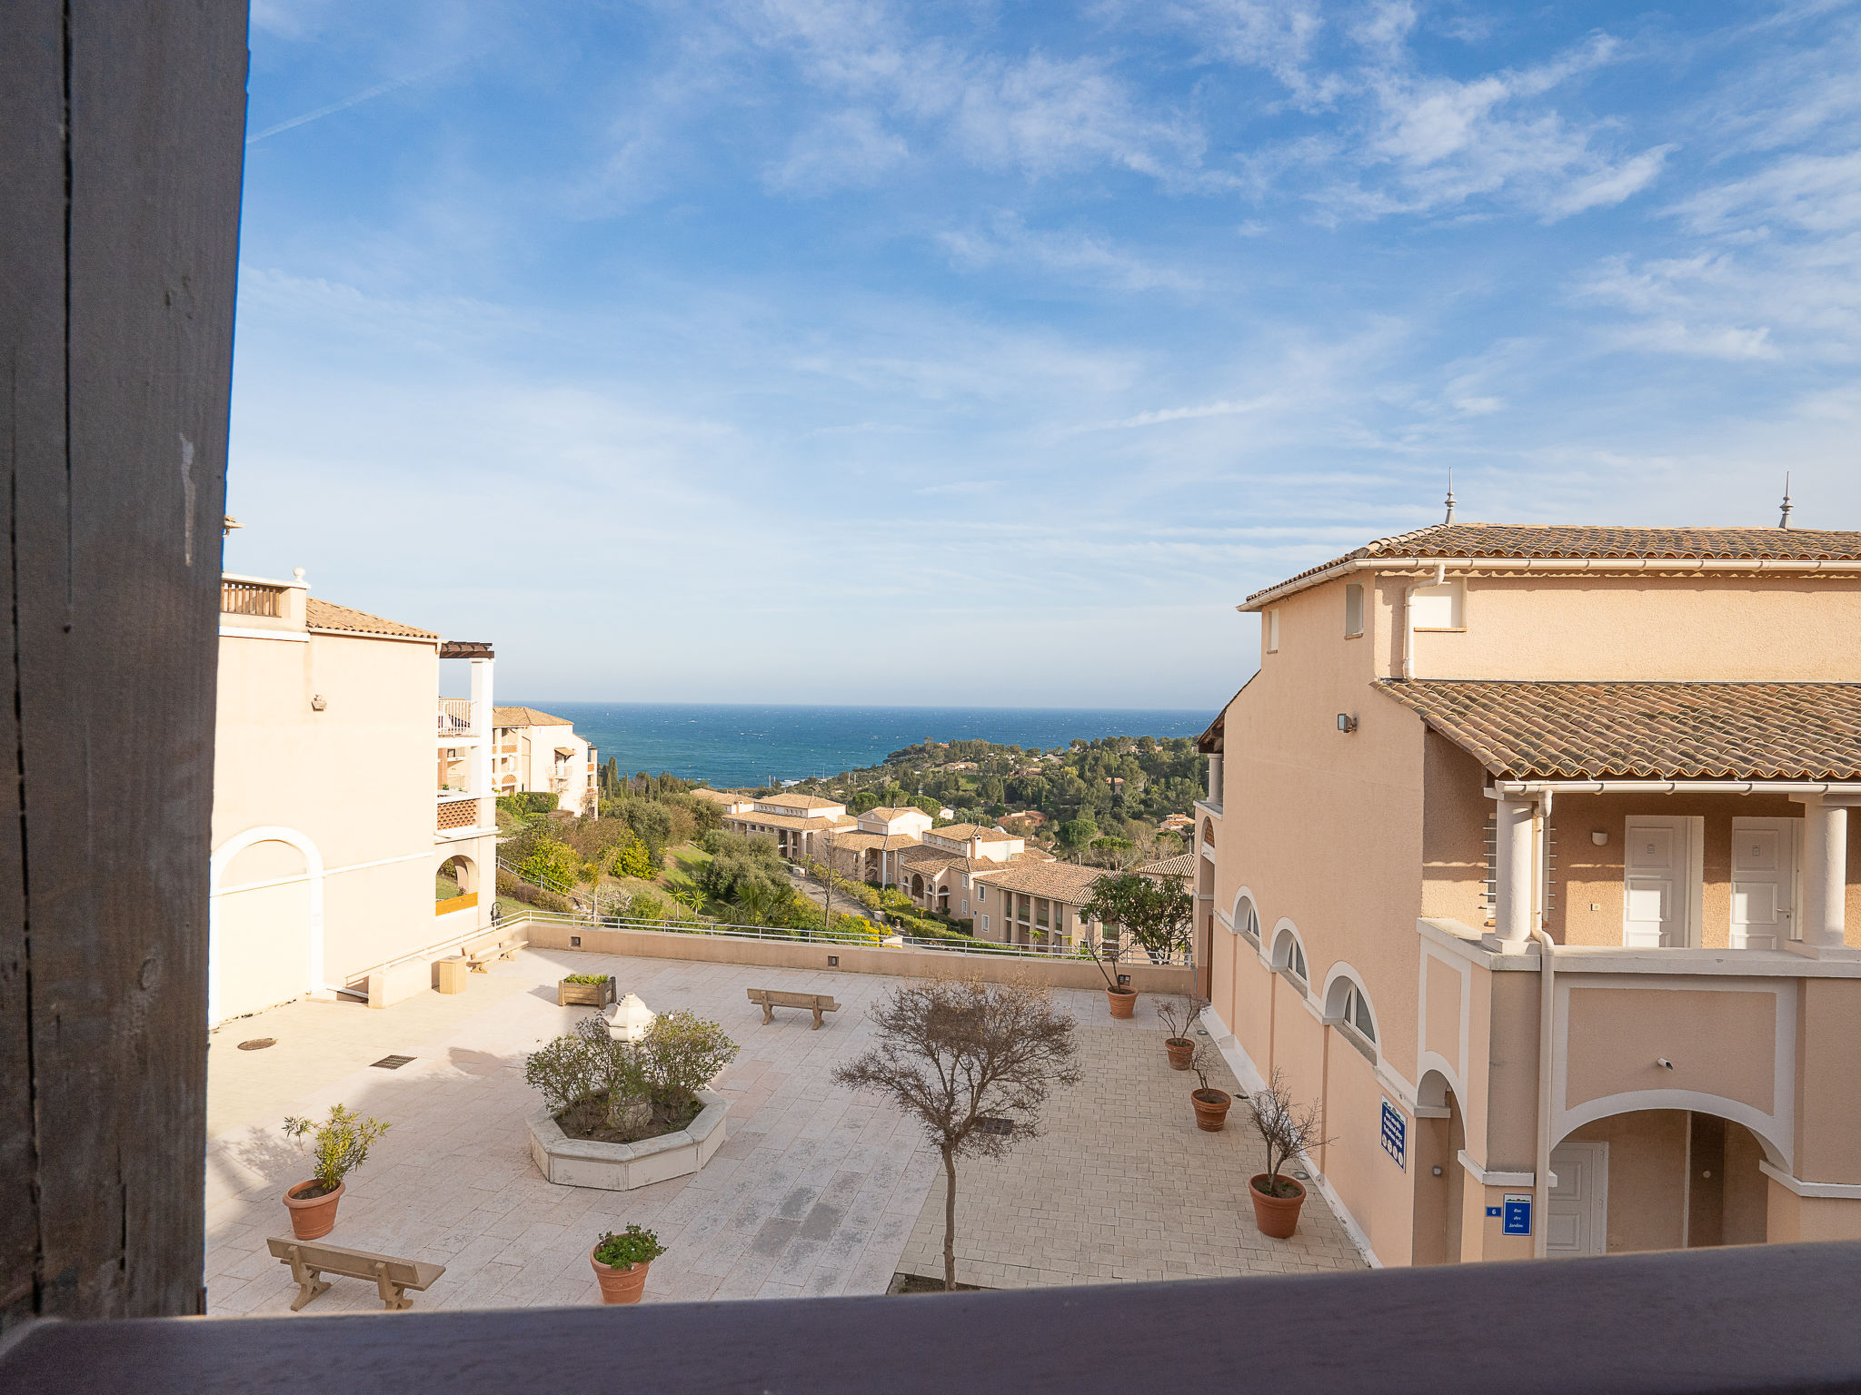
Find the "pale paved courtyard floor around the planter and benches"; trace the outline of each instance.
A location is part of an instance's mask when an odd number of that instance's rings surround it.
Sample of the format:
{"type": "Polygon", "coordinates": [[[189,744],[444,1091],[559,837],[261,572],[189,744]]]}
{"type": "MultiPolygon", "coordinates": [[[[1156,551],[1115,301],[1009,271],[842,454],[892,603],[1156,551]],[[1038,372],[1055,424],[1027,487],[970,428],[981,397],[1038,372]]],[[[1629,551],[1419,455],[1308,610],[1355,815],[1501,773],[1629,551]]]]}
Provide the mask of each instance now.
{"type": "MultiPolygon", "coordinates": [[[[525,950],[458,997],[294,1003],[231,1023],[208,1056],[208,1311],[288,1311],[296,1287],[264,1241],[288,1233],[279,1196],[309,1168],[277,1123],[339,1101],[393,1127],[350,1174],[328,1239],[447,1265],[415,1308],[592,1304],[588,1248],[629,1222],[666,1244],[648,1302],[882,1293],[901,1269],[942,1274],[936,1153],[890,1105],[828,1079],[871,1042],[867,1008],[895,982],[525,950]],[[741,1043],[716,1086],[731,1101],[728,1140],[702,1172],[603,1192],[555,1187],[530,1161],[525,1120],[540,1101],[523,1058],[592,1012],[555,1004],[555,980],[588,971],[618,975],[655,1010],[713,1017],[741,1043]],[[819,1032],[806,1012],[778,1010],[765,1027],[744,995],[763,986],[832,993],[841,1010],[819,1032]],[[266,1036],[277,1045],[236,1051],[266,1036]],[[413,1062],[367,1064],[387,1055],[413,1062]]],[[[1362,1265],[1318,1196],[1293,1241],[1260,1237],[1245,1200],[1258,1146],[1234,1125],[1195,1129],[1193,1077],[1169,1070],[1145,1004],[1111,1025],[1102,993],[1057,999],[1081,1023],[1085,1084],[1053,1097],[1042,1138],[962,1166],[958,1278],[1020,1287],[1362,1265]]],[[[372,1285],[333,1283],[307,1311],[380,1308],[372,1285]]]]}

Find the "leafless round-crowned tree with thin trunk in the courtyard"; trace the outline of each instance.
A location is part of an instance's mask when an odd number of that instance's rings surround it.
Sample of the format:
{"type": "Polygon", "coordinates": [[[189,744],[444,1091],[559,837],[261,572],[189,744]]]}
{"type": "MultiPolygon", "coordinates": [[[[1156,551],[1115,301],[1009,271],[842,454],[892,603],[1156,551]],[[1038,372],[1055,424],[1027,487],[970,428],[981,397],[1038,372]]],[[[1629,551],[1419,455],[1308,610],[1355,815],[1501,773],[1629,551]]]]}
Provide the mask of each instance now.
{"type": "Polygon", "coordinates": [[[957,1287],[957,1159],[1001,1157],[1040,1133],[1055,1084],[1078,1084],[1074,1021],[1044,988],[932,978],[891,990],[878,1045],[834,1071],[888,1096],[944,1159],[944,1289],[957,1287]]]}

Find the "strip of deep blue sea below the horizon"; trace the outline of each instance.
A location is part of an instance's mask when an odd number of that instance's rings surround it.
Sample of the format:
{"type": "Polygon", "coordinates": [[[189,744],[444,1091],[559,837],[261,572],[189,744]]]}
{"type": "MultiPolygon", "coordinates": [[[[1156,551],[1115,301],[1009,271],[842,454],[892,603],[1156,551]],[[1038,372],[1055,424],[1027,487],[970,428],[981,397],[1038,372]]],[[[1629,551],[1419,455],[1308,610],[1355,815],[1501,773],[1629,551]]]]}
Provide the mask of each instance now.
{"type": "Polygon", "coordinates": [[[506,703],[568,718],[622,772],[670,772],[730,789],[837,776],[921,740],[1066,746],[1076,737],[1195,737],[1213,712],[1092,707],[752,707],[711,703],[506,703]]]}

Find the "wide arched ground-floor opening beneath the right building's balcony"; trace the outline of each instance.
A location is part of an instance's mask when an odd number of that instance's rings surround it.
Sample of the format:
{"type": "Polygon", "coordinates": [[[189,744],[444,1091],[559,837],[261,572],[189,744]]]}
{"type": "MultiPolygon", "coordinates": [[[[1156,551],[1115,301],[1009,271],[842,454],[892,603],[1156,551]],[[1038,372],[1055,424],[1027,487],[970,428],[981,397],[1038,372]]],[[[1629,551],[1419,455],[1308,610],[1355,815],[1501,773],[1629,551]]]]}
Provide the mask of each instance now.
{"type": "Polygon", "coordinates": [[[1550,1256],[1762,1244],[1781,1153],[1755,1129],[1695,1109],[1606,1114],[1550,1149],[1550,1256]]]}

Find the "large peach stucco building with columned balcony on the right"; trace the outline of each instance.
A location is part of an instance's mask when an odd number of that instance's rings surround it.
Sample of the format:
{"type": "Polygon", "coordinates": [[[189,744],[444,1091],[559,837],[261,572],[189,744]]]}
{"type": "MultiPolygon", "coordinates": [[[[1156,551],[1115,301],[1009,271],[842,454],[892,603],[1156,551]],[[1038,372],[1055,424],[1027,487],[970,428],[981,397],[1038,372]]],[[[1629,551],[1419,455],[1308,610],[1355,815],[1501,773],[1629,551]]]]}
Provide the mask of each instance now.
{"type": "Polygon", "coordinates": [[[1197,962],[1370,1254],[1861,1237],[1861,534],[1448,523],[1241,608],[1197,962]]]}

